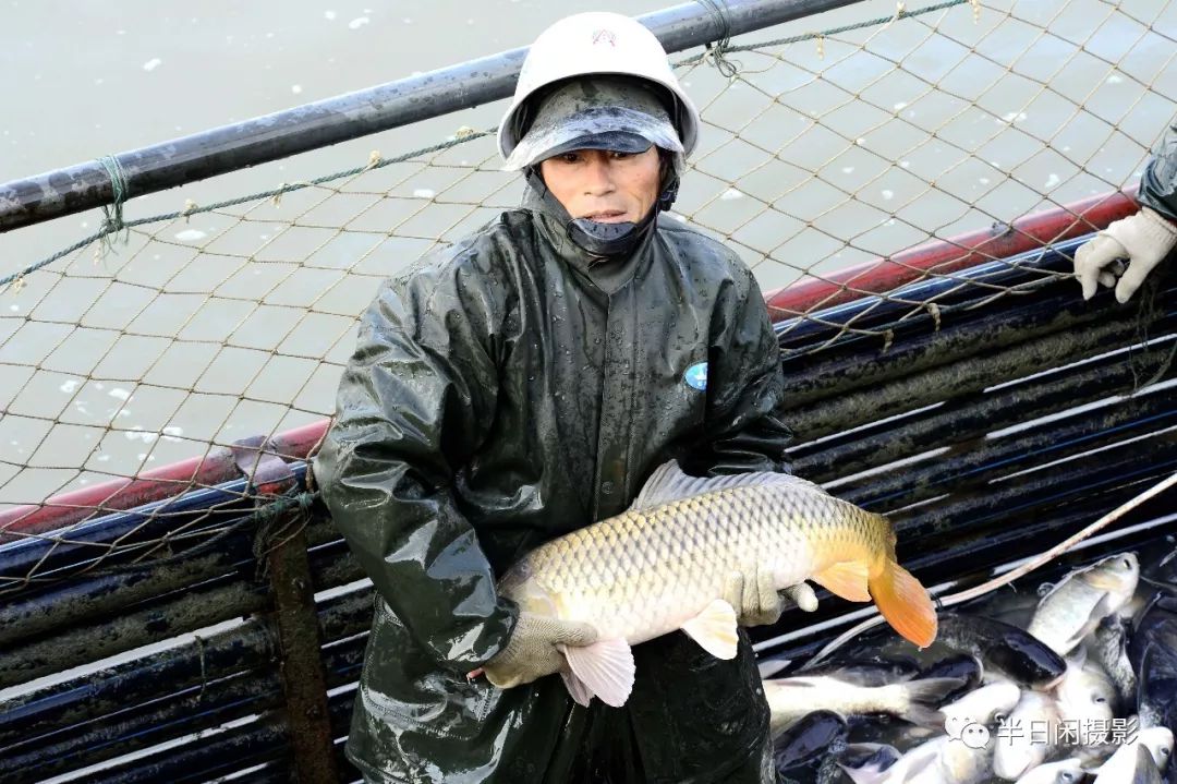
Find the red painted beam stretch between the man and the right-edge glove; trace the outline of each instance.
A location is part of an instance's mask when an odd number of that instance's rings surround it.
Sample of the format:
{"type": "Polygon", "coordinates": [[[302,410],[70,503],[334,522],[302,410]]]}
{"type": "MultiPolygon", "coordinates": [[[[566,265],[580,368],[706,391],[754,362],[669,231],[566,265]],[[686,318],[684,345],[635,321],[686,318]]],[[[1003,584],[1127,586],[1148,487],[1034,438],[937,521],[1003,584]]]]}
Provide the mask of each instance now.
{"type": "Polygon", "coordinates": [[[1137,211],[1136,187],[1105,193],[1056,210],[1019,218],[947,240],[936,240],[892,257],[856,264],[827,275],[798,280],[764,295],[774,321],[892,291],[927,275],[946,274],[1062,242],[1103,228],[1137,211]]]}

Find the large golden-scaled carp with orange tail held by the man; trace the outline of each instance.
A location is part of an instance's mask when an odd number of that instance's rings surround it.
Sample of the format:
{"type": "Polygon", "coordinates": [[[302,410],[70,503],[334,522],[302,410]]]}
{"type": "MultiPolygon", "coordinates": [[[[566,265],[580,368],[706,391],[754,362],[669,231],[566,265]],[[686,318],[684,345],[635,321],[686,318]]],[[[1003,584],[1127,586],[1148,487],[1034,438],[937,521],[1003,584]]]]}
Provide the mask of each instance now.
{"type": "MultiPolygon", "coordinates": [[[[736,656],[733,576],[780,590],[805,580],[847,599],[873,598],[907,639],[936,638],[923,585],[895,560],[885,518],[780,473],[696,478],[659,466],[630,510],[540,545],[513,565],[499,593],[520,611],[586,623],[597,642],[561,646],[560,675],[577,702],[621,705],[633,686],[631,645],[677,629],[722,658],[736,656]]],[[[492,683],[512,685],[486,667],[492,683]]]]}

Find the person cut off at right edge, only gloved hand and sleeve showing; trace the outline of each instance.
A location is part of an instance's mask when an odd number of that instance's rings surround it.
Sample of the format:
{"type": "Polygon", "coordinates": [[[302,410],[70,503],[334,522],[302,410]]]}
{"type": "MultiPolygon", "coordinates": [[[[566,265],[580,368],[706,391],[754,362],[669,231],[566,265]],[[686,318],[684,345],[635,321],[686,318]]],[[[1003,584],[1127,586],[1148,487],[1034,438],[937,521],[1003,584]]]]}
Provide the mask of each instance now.
{"type": "Polygon", "coordinates": [[[1177,246],[1177,121],[1144,167],[1138,200],[1138,213],[1112,222],[1075,253],[1083,299],[1095,295],[1098,283],[1115,286],[1116,299],[1126,303],[1177,246]],[[1117,259],[1129,260],[1118,277],[1117,259]]]}

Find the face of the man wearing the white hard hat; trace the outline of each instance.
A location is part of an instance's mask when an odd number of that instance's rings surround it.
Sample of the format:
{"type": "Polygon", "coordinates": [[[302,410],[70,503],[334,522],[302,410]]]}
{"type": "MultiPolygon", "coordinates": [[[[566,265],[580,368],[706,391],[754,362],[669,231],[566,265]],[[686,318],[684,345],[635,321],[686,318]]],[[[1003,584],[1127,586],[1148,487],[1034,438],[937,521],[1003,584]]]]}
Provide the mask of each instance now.
{"type": "Polygon", "coordinates": [[[573,218],[640,222],[658,198],[657,147],[643,153],[576,150],[539,165],[547,190],[573,218]]]}

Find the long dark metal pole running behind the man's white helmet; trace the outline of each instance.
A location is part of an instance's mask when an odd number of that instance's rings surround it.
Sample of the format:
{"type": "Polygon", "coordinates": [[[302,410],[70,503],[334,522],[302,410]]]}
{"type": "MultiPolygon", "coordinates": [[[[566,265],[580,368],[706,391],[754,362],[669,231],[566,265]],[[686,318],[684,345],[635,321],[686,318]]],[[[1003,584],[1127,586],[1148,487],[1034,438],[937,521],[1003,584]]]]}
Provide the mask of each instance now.
{"type": "MultiPolygon", "coordinates": [[[[657,11],[638,21],[667,52],[701,46],[862,0],[726,0],[720,18],[701,2],[657,11]]],[[[308,150],[410,125],[507,98],[527,47],[419,77],[180,137],[114,158],[124,199],[257,166],[308,150]]],[[[97,160],[0,185],[0,232],[114,201],[111,175],[97,160]]]]}

